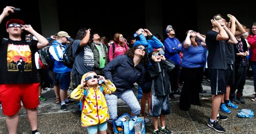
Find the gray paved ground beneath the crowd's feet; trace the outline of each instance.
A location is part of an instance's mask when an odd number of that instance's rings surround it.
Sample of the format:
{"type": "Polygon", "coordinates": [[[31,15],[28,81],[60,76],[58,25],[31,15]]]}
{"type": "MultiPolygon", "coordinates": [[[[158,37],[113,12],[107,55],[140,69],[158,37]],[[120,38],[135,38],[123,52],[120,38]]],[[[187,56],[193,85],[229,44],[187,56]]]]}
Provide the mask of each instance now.
{"type": "MultiPolygon", "coordinates": [[[[136,85],[136,84],[135,84],[136,85]]],[[[135,86],[137,88],[137,86],[135,86]]],[[[135,93],[136,88],[134,88],[135,93]]],[[[203,89],[207,91],[206,94],[200,94],[202,106],[191,105],[188,112],[179,110],[179,95],[175,95],[175,99],[170,99],[172,114],[166,116],[166,126],[172,130],[173,133],[218,133],[207,126],[208,118],[211,112],[210,87],[208,82],[204,82],[203,89]]],[[[252,109],[256,111],[256,101],[251,101],[253,97],[254,87],[253,79],[249,78],[246,81],[244,89],[245,104],[238,104],[238,110],[252,109]]],[[[81,127],[80,112],[77,104],[68,105],[69,111],[61,112],[60,104],[55,104],[54,91],[43,91],[42,95],[47,98],[46,101],[41,101],[38,106],[38,131],[41,133],[87,133],[86,128],[81,127]]],[[[129,112],[130,109],[118,100],[118,115],[129,112]]],[[[237,110],[231,110],[230,114],[221,115],[228,116],[225,121],[219,123],[226,129],[224,133],[256,133],[255,117],[239,118],[237,117],[237,110]]],[[[17,133],[31,133],[29,122],[26,116],[26,111],[22,108],[19,112],[19,124],[17,133]]],[[[152,122],[152,118],[149,118],[152,122]]],[[[160,121],[159,121],[160,122],[160,121]]],[[[152,122],[153,123],[153,122],[152,122]]],[[[8,133],[5,123],[5,116],[0,114],[0,133],[8,133]]],[[[160,124],[159,124],[160,126],[160,124]]],[[[153,125],[146,126],[146,133],[153,133],[153,125]]]]}

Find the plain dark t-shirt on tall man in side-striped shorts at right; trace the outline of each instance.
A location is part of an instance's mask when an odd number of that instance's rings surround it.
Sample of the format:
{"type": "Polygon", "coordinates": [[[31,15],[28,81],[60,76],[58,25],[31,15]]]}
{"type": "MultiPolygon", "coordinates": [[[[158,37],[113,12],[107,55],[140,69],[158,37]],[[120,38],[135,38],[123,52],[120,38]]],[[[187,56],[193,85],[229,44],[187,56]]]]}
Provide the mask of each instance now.
{"type": "Polygon", "coordinates": [[[205,43],[208,47],[207,66],[209,69],[227,69],[226,41],[216,40],[219,33],[208,31],[205,43]]]}

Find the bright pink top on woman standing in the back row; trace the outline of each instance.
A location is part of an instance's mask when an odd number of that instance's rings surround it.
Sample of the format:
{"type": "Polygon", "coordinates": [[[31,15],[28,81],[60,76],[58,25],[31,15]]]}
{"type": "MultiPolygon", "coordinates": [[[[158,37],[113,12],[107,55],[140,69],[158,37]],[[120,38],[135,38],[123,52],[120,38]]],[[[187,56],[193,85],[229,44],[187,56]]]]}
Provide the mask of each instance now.
{"type": "Polygon", "coordinates": [[[110,61],[112,61],[117,56],[123,55],[125,51],[129,49],[126,43],[125,43],[125,47],[122,47],[121,45],[116,44],[116,42],[114,42],[114,44],[115,44],[114,57],[113,57],[113,46],[110,45],[110,51],[109,51],[110,61]]]}

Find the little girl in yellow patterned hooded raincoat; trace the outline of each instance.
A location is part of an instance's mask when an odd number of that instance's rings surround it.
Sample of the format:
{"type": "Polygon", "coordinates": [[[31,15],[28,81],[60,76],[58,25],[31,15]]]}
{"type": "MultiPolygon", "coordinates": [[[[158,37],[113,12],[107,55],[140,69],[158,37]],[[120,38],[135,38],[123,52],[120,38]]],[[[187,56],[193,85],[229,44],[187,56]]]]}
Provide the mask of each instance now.
{"type": "Polygon", "coordinates": [[[71,98],[82,101],[81,125],[89,133],[106,133],[109,110],[104,94],[116,91],[115,85],[95,72],[83,74],[81,84],[71,93],[71,98]],[[101,83],[103,81],[103,83],[101,83]]]}

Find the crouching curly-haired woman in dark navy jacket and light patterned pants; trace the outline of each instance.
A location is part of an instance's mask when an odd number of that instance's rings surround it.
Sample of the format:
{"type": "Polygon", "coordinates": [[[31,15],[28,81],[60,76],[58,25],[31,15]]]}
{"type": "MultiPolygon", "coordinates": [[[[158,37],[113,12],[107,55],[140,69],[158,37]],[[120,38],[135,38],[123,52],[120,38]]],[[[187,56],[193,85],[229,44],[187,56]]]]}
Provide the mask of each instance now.
{"type": "Polygon", "coordinates": [[[112,133],[112,122],[117,119],[117,97],[122,99],[130,108],[131,116],[140,114],[140,104],[132,91],[134,83],[143,88],[149,88],[150,84],[145,83],[145,67],[148,65],[147,52],[143,45],[135,46],[113,59],[103,69],[106,79],[110,79],[116,86],[116,92],[106,94],[110,119],[108,120],[109,132],[112,133]]]}

